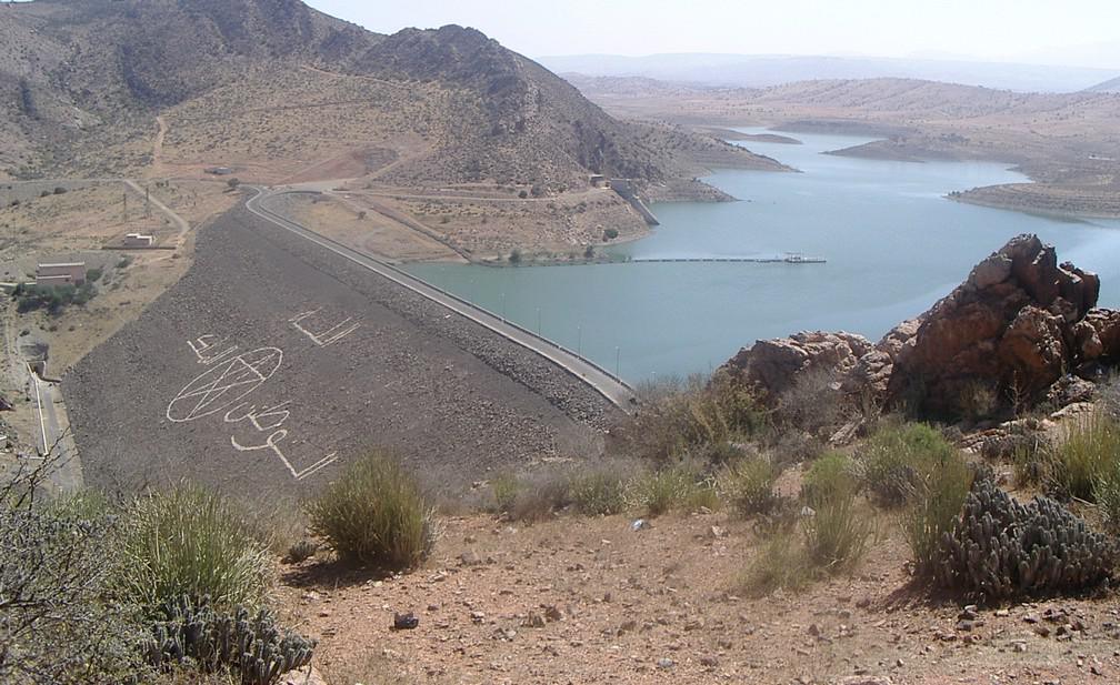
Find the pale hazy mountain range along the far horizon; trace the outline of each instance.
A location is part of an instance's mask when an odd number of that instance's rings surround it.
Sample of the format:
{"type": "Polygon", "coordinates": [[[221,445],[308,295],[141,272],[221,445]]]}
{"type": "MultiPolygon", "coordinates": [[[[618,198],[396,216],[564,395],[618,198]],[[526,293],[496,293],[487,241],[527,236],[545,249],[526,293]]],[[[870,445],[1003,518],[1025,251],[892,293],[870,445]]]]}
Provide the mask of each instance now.
{"type": "Polygon", "coordinates": [[[557,73],[588,76],[643,76],[660,81],[727,87],[767,87],[797,81],[920,78],[1020,92],[1070,93],[1117,76],[1113,69],[943,59],[801,57],[678,54],[623,57],[541,57],[557,73]]]}

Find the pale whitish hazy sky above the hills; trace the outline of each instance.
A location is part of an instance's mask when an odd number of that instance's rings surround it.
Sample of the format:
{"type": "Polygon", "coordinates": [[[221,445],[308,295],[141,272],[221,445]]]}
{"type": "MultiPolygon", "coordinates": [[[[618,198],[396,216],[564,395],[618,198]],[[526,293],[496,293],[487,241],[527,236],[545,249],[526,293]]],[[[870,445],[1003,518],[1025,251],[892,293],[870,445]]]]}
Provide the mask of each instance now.
{"type": "Polygon", "coordinates": [[[377,32],[473,26],[532,57],[978,57],[1120,68],[1117,0],[308,0],[377,32]]]}

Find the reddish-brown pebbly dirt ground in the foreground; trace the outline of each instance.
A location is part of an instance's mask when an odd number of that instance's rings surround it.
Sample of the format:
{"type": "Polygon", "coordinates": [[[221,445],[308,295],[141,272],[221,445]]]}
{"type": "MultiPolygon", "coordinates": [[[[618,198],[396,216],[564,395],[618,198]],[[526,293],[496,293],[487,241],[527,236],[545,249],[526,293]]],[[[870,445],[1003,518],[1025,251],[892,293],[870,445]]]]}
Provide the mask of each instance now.
{"type": "Polygon", "coordinates": [[[1114,595],[980,609],[963,623],[961,604],[932,602],[909,585],[907,551],[889,520],[851,574],[762,599],[736,582],[759,550],[752,524],[722,513],[666,516],[638,531],[632,520],[563,516],[523,527],[452,518],[416,572],[333,574],[307,561],[286,567],[282,599],[298,629],[320,640],[320,668],[361,673],[380,659],[401,674],[386,682],[1120,678],[1114,595]],[[393,613],[409,611],[419,627],[391,630],[393,613]]]}

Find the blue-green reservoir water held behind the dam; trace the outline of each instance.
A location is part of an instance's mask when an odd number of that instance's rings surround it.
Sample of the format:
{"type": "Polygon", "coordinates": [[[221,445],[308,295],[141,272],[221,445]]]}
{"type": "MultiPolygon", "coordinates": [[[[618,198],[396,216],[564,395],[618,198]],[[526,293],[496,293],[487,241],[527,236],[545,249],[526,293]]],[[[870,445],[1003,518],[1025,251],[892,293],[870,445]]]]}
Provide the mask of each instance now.
{"type": "Polygon", "coordinates": [[[741,201],[654,205],[662,225],[653,235],[612,250],[635,259],[800,252],[827,264],[407,269],[610,370],[617,365],[631,381],[709,372],[756,339],[799,330],[876,339],[926,310],[1019,233],[1037,233],[1057,246],[1060,260],[1100,273],[1101,303],[1120,306],[1120,220],[944,199],[951,190],[1027,180],[1007,165],[828,156],[821,152],[870,139],[795,137],[805,144],[747,144],[802,173],[717,172],[706,180],[741,201]]]}

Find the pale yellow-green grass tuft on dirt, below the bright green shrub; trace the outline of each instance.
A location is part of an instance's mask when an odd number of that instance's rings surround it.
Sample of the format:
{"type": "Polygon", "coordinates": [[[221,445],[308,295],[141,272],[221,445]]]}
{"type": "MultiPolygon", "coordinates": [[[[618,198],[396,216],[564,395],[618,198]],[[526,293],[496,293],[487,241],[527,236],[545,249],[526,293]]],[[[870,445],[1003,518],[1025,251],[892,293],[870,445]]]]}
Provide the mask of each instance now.
{"type": "Polygon", "coordinates": [[[867,552],[872,526],[853,490],[837,489],[819,498],[813,513],[801,519],[810,563],[828,573],[850,567],[867,552]]]}

